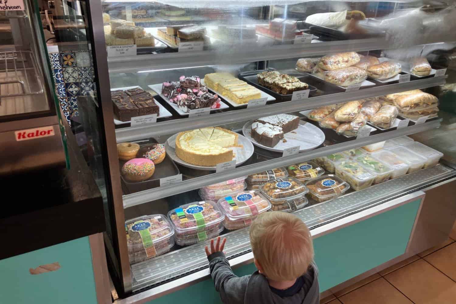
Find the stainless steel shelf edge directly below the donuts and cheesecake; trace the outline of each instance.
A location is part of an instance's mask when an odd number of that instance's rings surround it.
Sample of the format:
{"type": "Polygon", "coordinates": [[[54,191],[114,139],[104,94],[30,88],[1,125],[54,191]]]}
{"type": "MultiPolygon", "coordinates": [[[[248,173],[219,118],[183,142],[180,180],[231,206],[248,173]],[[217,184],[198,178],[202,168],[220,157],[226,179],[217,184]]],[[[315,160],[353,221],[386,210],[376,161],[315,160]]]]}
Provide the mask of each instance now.
{"type": "Polygon", "coordinates": [[[124,208],[131,206],[136,206],[143,204],[148,201],[155,201],[157,199],[175,195],[177,193],[182,193],[194,189],[201,188],[202,186],[222,182],[224,180],[231,180],[240,176],[250,175],[261,171],[266,171],[271,168],[278,168],[286,165],[290,165],[296,162],[310,160],[316,157],[321,157],[329,155],[332,153],[344,151],[347,149],[353,149],[361,147],[367,144],[377,143],[383,140],[410,135],[419,133],[422,131],[439,128],[440,120],[433,120],[424,124],[417,124],[403,129],[397,129],[394,131],[389,131],[381,134],[376,134],[372,136],[365,137],[363,139],[355,139],[347,141],[341,144],[334,144],[328,147],[314,149],[306,152],[299,153],[297,155],[281,157],[274,160],[266,160],[257,164],[246,165],[243,167],[236,168],[236,170],[214,173],[210,175],[205,175],[191,180],[186,180],[179,184],[179,187],[176,188],[175,185],[167,187],[158,187],[150,190],[140,191],[133,194],[128,194],[123,196],[124,208]]]}

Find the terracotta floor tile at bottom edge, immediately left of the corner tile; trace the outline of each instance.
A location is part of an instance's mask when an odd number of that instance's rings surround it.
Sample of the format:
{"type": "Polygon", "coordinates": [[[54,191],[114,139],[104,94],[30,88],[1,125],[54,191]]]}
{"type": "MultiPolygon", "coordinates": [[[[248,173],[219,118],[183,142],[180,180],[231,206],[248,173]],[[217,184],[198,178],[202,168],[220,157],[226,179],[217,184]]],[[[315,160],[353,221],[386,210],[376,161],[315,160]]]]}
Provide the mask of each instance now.
{"type": "Polygon", "coordinates": [[[340,297],[343,304],[413,304],[384,278],[340,297]]]}

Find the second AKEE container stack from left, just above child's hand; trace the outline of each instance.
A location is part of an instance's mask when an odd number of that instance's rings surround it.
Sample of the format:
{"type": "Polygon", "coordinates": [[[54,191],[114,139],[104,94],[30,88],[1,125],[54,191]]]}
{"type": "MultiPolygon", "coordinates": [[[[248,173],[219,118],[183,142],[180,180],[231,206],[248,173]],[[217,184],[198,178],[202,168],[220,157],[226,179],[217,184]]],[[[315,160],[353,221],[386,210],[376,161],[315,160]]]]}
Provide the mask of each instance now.
{"type": "Polygon", "coordinates": [[[192,245],[216,237],[223,231],[225,216],[213,201],[195,201],[168,212],[176,232],[176,243],[192,245]]]}

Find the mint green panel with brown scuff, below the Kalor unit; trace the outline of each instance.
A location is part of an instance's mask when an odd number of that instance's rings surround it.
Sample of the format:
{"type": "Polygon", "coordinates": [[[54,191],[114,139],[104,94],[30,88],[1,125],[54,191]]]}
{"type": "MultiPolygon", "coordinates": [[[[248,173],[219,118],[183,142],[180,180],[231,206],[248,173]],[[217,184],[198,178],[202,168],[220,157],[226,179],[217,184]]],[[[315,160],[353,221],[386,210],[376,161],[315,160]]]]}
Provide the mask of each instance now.
{"type": "Polygon", "coordinates": [[[88,237],[1,260],[0,294],[0,303],[96,304],[88,237]],[[35,275],[29,272],[30,268],[55,262],[60,264],[56,271],[35,275]]]}

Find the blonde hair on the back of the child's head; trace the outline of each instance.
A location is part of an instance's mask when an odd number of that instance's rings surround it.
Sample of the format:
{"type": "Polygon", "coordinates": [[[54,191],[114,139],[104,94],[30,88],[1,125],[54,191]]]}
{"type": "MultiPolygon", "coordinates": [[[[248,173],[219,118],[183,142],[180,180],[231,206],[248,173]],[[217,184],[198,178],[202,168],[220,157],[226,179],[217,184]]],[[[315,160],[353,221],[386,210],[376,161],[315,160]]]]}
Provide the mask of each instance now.
{"type": "Polygon", "coordinates": [[[252,222],[250,243],[264,275],[275,281],[300,277],[314,257],[309,228],[297,216],[281,211],[265,212],[252,222]]]}

